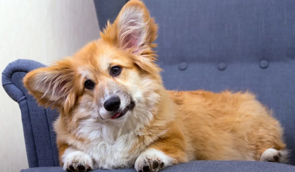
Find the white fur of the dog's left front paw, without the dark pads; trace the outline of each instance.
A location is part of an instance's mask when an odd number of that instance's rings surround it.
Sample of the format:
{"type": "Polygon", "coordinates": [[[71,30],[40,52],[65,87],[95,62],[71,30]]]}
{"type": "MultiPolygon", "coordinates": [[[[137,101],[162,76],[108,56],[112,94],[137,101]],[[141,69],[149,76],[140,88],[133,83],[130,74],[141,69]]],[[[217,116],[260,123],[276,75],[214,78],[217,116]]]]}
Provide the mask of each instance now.
{"type": "Polygon", "coordinates": [[[83,153],[75,148],[69,147],[65,150],[62,156],[62,161],[64,163],[63,169],[66,170],[69,166],[73,166],[78,169],[79,165],[85,168],[90,168],[93,170],[93,161],[89,155],[83,153]]]}

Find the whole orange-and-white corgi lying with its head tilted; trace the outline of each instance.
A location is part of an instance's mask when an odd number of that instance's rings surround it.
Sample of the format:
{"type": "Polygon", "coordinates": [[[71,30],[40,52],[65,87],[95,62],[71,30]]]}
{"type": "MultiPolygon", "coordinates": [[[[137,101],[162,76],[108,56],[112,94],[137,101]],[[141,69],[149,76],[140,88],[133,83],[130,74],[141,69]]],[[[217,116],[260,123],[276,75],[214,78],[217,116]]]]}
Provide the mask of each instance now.
{"type": "Polygon", "coordinates": [[[153,50],[157,30],[145,5],[130,0],[100,39],[24,77],[40,105],[60,112],[54,128],[63,169],[286,163],[283,129],[253,94],[165,89],[153,50]]]}

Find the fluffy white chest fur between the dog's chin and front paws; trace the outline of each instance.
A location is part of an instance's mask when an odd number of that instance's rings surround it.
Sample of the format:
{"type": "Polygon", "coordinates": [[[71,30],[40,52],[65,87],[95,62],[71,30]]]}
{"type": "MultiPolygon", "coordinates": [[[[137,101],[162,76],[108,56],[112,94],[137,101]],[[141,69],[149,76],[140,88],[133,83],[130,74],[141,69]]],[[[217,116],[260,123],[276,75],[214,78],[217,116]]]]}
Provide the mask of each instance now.
{"type": "MultiPolygon", "coordinates": [[[[126,130],[126,128],[123,126],[120,129],[115,125],[99,126],[99,124],[88,121],[88,128],[85,126],[81,127],[80,131],[88,132],[89,138],[93,140],[88,144],[77,141],[70,144],[90,155],[95,161],[94,168],[114,169],[132,167],[136,158],[145,147],[132,149],[139,142],[138,136],[140,133],[130,132],[126,134],[126,131],[122,130],[126,130]]],[[[165,132],[163,131],[159,135],[163,135],[165,132]]],[[[146,140],[145,143],[150,144],[156,137],[146,140]]]]}

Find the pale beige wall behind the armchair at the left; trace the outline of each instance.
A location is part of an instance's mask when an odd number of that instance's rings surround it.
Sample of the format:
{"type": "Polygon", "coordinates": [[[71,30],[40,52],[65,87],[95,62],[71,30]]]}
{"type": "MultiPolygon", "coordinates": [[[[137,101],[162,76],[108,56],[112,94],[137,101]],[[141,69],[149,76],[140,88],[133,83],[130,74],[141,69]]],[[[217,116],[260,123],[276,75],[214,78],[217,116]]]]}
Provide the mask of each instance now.
{"type": "MultiPolygon", "coordinates": [[[[18,58],[44,64],[75,53],[99,37],[92,0],[1,0],[0,71],[18,58]]],[[[18,104],[0,88],[0,167],[27,168],[18,104]]]]}

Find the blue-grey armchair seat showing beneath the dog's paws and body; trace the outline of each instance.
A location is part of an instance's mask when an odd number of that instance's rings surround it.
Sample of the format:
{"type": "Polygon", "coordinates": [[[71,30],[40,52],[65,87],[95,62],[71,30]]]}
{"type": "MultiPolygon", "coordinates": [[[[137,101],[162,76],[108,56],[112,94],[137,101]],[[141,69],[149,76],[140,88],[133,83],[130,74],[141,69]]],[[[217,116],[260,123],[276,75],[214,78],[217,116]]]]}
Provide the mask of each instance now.
{"type": "MultiPolygon", "coordinates": [[[[109,170],[95,170],[94,172],[103,172],[109,170]]],[[[178,164],[163,169],[165,171],[173,172],[294,172],[295,166],[255,162],[255,161],[193,161],[189,163],[178,164]]],[[[21,172],[64,172],[63,168],[31,168],[22,170],[21,172]]],[[[134,169],[112,170],[112,172],[135,172],[134,169]]]]}

